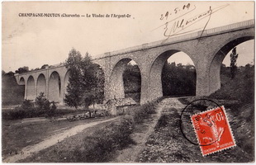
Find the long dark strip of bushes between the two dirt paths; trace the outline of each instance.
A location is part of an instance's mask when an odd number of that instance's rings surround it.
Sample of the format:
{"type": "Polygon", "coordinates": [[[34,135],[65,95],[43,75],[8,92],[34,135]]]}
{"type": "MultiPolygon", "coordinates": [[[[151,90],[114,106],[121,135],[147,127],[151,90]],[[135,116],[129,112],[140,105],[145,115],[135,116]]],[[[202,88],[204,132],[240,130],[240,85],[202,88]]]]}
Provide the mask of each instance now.
{"type": "Polygon", "coordinates": [[[120,120],[86,137],[83,148],[77,148],[74,151],[73,160],[83,163],[107,162],[115,150],[134,143],[130,134],[135,124],[141,124],[149,115],[156,113],[155,106],[161,100],[162,98],[159,98],[143,106],[135,106],[130,115],[125,115],[120,120]]]}

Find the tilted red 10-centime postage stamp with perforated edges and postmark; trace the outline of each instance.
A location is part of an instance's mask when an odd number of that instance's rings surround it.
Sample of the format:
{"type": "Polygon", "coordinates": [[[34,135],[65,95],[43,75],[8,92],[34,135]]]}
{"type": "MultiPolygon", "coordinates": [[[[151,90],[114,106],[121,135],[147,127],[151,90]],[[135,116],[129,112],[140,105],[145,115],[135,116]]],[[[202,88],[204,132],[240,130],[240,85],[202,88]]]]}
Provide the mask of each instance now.
{"type": "Polygon", "coordinates": [[[192,115],[202,156],[235,146],[224,106],[192,115]]]}

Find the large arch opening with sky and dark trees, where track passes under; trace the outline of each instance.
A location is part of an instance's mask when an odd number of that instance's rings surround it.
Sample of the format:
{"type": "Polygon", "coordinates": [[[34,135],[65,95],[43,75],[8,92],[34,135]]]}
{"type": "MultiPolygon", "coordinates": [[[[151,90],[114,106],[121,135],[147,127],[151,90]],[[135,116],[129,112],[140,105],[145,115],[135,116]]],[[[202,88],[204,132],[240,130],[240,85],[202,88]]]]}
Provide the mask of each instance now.
{"type": "Polygon", "coordinates": [[[159,54],[149,73],[149,100],[158,97],[196,95],[197,74],[192,59],[183,51],[159,54]]]}

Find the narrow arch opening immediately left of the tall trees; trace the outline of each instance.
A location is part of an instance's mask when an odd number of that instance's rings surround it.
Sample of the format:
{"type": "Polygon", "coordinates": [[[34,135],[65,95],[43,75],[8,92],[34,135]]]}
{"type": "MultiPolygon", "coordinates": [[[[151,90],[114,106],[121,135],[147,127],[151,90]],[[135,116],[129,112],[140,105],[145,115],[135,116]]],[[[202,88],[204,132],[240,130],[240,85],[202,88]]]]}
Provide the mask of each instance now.
{"type": "Polygon", "coordinates": [[[59,73],[53,72],[49,78],[49,100],[59,102],[61,82],[59,73]]]}

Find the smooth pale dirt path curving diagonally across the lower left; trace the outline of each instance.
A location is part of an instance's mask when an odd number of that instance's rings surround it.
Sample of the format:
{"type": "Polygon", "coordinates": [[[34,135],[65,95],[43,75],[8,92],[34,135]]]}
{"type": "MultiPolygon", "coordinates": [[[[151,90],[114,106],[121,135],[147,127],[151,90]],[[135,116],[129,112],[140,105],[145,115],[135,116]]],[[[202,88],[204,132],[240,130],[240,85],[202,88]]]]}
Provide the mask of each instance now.
{"type": "Polygon", "coordinates": [[[64,140],[65,138],[69,138],[70,136],[78,134],[78,133],[82,132],[85,129],[88,129],[92,126],[95,126],[95,125],[98,125],[98,124],[101,124],[101,123],[104,123],[104,122],[107,122],[107,121],[116,120],[116,119],[117,119],[117,117],[109,119],[109,120],[94,121],[94,122],[87,123],[87,124],[84,124],[84,125],[74,126],[73,128],[71,128],[69,130],[64,130],[63,132],[61,132],[59,134],[54,134],[54,135],[44,139],[39,144],[35,144],[35,145],[27,146],[26,148],[22,148],[21,151],[18,154],[7,157],[7,158],[4,158],[2,160],[2,162],[4,162],[4,163],[15,163],[19,160],[22,160],[24,158],[27,158],[27,157],[31,156],[31,154],[38,153],[42,149],[49,148],[50,146],[53,146],[53,145],[57,144],[60,141],[64,140]]]}

